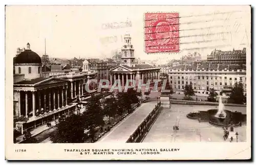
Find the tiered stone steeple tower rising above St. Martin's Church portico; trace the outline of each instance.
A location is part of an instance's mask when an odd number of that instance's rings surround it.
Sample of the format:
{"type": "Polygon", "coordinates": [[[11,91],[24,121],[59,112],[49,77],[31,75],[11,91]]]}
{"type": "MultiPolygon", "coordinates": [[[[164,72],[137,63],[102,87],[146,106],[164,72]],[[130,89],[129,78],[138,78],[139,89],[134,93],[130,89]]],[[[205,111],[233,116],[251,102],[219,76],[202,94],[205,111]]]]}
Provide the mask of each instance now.
{"type": "Polygon", "coordinates": [[[132,38],[130,34],[124,35],[124,45],[122,46],[122,64],[130,67],[134,67],[135,57],[134,57],[134,48],[131,42],[132,38]]]}

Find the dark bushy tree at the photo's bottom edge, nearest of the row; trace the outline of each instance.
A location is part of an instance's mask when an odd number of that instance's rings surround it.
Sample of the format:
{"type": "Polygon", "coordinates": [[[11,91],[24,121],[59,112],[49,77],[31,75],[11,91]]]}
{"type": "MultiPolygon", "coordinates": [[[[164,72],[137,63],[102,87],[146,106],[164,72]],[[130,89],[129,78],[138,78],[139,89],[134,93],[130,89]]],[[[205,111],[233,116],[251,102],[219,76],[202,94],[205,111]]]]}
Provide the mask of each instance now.
{"type": "Polygon", "coordinates": [[[86,120],[83,115],[72,114],[56,125],[57,131],[50,135],[53,143],[83,143],[86,120]]]}

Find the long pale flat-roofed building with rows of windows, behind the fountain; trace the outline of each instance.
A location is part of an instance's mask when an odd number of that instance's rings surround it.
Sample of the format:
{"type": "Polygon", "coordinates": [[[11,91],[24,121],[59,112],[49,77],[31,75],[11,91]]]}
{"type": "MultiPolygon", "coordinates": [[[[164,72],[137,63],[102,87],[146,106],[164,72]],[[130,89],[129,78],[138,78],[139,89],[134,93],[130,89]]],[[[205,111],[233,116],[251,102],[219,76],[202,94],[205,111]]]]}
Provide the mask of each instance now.
{"type": "Polygon", "coordinates": [[[192,84],[193,89],[198,93],[208,94],[210,88],[220,93],[232,88],[234,83],[239,81],[243,82],[246,91],[245,69],[172,69],[168,75],[169,82],[176,91],[182,91],[186,84],[192,84]]]}

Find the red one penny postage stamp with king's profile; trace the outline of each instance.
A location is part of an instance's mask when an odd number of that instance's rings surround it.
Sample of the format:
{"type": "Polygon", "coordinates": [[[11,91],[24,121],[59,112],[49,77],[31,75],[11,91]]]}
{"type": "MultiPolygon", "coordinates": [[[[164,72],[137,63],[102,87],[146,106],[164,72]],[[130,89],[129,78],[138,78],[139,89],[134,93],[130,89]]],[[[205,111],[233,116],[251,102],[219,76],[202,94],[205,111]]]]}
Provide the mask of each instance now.
{"type": "Polygon", "coordinates": [[[145,52],[179,52],[179,13],[145,14],[145,52]]]}

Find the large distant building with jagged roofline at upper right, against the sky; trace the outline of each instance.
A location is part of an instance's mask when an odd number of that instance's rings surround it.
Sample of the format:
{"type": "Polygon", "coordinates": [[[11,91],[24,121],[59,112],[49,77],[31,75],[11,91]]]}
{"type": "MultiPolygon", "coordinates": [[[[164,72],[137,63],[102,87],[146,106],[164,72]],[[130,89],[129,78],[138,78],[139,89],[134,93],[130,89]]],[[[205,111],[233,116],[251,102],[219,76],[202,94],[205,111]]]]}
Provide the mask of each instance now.
{"type": "Polygon", "coordinates": [[[214,50],[207,56],[210,63],[219,64],[246,64],[246,48],[243,50],[221,51],[214,50]]]}

